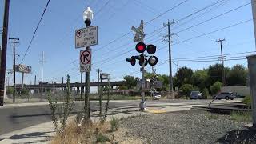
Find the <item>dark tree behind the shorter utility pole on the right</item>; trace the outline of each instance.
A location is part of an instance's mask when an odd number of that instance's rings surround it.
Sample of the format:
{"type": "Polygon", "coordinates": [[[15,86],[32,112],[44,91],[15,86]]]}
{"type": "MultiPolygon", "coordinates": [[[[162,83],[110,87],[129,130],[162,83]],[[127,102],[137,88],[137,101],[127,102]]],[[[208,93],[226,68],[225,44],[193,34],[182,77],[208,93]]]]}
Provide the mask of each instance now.
{"type": "MultiPolygon", "coordinates": [[[[228,74],[229,68],[225,67],[225,74],[228,74]]],[[[210,65],[208,68],[209,82],[210,85],[214,82],[222,82],[222,64],[216,63],[215,65],[210,65]]]]}

